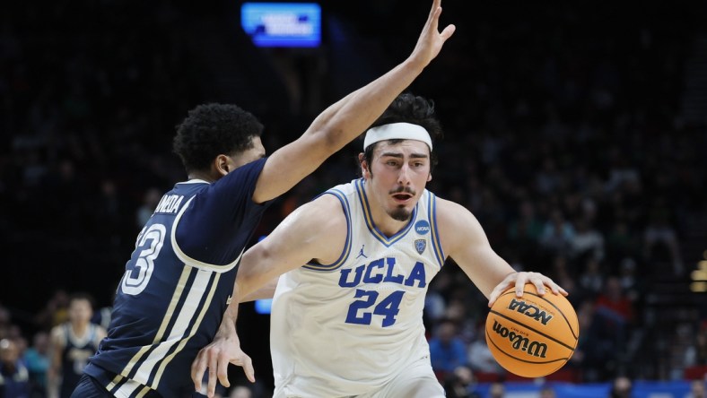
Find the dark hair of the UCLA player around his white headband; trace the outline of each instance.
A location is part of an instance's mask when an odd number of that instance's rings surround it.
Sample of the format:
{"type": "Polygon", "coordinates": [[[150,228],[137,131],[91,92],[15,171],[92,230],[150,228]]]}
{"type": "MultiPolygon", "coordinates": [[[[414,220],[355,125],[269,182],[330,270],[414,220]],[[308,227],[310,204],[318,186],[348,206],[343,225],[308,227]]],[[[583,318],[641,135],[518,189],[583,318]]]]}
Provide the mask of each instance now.
{"type": "MultiPolygon", "coordinates": [[[[424,129],[427,130],[427,133],[430,134],[432,143],[441,140],[443,136],[440,121],[434,115],[434,101],[432,101],[432,99],[416,96],[409,92],[398,95],[397,99],[394,99],[386,111],[383,112],[383,115],[380,115],[369,128],[402,122],[422,125],[424,129]]],[[[389,141],[391,143],[397,143],[402,140],[389,141]]],[[[371,164],[371,160],[373,160],[373,151],[376,149],[376,145],[378,145],[378,143],[371,144],[371,146],[366,148],[363,152],[363,159],[366,160],[368,164],[371,164]]],[[[437,163],[437,154],[432,152],[430,154],[430,170],[432,170],[437,163]]]]}

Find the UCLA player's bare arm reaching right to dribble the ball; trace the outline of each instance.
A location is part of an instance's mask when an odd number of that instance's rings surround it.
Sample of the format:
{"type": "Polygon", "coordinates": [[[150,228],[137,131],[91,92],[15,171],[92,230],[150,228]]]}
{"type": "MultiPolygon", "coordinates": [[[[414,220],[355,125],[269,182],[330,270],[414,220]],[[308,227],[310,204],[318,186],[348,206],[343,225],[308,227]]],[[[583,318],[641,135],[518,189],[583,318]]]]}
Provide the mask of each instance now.
{"type": "Polygon", "coordinates": [[[489,307],[501,293],[513,286],[520,296],[526,283],[533,283],[544,294],[546,287],[554,294],[567,292],[550,278],[540,273],[516,273],[501,256],[493,251],[484,229],[466,208],[446,200],[439,200],[437,221],[444,252],[474,282],[489,299],[489,307]]]}

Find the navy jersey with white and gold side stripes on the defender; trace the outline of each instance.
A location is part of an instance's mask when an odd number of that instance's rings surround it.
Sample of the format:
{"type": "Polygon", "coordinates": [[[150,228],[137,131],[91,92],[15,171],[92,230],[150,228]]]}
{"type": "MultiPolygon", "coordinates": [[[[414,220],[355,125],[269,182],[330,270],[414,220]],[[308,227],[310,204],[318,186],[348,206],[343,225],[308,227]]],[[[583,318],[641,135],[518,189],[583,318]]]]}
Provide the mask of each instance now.
{"type": "Polygon", "coordinates": [[[193,391],[191,363],[212,342],[237,265],[267,204],[253,203],[266,159],[163,195],[135,242],[108,337],[85,372],[116,396],[193,391]]]}

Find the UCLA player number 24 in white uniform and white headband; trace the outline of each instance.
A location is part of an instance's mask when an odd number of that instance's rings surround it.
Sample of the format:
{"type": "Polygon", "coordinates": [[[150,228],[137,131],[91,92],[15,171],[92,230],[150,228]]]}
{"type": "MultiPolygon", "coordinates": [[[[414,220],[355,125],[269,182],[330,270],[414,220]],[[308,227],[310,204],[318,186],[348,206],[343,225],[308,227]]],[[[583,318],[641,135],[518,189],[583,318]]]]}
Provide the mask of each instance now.
{"type": "Polygon", "coordinates": [[[516,273],[471,212],[425,189],[439,134],[432,102],[401,94],[365,134],[362,178],[302,205],[243,255],[234,302],[192,367],[197,388],[206,368],[226,383],[229,361],[245,364],[253,381],[238,346],[236,300],[268,281],[276,284],[270,349],[277,398],[443,397],[423,308],[447,259],[489,306],[511,287],[521,296],[526,283],[541,294],[567,294],[540,273],[516,273]]]}

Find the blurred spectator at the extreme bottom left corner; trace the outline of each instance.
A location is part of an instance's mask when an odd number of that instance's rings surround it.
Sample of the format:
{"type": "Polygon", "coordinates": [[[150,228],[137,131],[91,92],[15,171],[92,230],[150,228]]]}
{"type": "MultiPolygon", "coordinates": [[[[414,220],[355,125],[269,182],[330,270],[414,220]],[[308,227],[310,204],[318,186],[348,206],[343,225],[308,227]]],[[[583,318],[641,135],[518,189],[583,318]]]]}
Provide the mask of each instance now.
{"type": "Polygon", "coordinates": [[[30,373],[10,339],[0,340],[0,398],[29,398],[30,373]]]}

